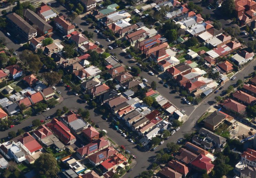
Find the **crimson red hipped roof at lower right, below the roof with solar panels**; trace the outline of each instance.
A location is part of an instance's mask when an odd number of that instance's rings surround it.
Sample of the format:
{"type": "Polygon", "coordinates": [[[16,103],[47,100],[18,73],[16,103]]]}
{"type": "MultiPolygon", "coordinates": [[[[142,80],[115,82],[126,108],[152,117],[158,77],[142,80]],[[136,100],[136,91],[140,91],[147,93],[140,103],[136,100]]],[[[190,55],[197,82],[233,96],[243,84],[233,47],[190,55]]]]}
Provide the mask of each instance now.
{"type": "Polygon", "coordinates": [[[200,154],[198,157],[196,157],[195,160],[191,162],[191,164],[202,170],[206,170],[207,172],[214,167],[214,165],[211,163],[211,158],[204,156],[203,154],[200,154]]]}

